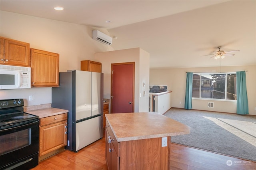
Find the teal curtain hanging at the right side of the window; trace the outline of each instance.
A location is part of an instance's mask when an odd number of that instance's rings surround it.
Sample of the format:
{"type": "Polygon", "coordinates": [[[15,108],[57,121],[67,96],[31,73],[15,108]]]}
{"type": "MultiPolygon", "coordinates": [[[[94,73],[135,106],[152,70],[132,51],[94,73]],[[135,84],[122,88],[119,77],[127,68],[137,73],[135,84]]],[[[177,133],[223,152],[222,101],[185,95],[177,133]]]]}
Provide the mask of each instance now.
{"type": "Polygon", "coordinates": [[[236,72],[236,113],[249,114],[245,71],[236,72]]]}

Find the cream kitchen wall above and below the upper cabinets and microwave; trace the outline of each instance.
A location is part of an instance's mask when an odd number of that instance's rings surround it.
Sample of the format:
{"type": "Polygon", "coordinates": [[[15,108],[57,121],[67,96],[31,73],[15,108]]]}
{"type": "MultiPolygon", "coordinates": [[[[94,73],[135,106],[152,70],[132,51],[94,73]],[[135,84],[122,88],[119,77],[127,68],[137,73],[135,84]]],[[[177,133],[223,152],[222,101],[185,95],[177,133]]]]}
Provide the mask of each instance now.
{"type": "MultiPolygon", "coordinates": [[[[30,43],[30,48],[60,54],[60,72],[80,70],[81,60],[93,60],[94,53],[113,50],[92,39],[94,28],[56,20],[0,11],[0,36],[30,43]]],[[[107,30],[100,31],[109,34],[107,30]]],[[[25,106],[52,102],[51,88],[0,90],[0,99],[24,98],[25,106]],[[34,100],[28,101],[33,95],[34,100]]]]}

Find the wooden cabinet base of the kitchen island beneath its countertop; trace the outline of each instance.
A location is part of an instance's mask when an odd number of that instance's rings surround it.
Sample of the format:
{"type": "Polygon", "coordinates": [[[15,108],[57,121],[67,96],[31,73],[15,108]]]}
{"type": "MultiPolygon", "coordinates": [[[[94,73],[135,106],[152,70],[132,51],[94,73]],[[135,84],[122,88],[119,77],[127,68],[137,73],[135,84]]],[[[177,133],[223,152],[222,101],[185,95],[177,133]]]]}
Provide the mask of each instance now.
{"type": "MultiPolygon", "coordinates": [[[[117,142],[106,120],[106,162],[108,170],[168,170],[170,144],[162,138],[117,142]]],[[[170,141],[170,136],[167,141],[170,141]]]]}

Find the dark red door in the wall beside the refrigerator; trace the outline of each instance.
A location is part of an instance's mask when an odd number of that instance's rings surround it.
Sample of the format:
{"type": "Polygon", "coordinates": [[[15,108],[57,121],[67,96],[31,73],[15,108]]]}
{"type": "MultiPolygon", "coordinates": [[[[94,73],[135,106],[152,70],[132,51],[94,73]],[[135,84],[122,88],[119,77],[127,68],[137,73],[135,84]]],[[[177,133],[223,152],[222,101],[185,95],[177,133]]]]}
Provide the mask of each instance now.
{"type": "Polygon", "coordinates": [[[134,112],[134,65],[111,64],[111,113],[134,112]]]}

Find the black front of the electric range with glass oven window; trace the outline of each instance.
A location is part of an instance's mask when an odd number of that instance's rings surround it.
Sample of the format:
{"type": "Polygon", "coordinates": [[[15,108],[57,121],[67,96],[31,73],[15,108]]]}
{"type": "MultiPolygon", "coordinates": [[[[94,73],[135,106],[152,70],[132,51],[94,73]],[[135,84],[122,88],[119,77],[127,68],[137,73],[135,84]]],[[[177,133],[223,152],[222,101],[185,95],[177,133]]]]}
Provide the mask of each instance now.
{"type": "MultiPolygon", "coordinates": [[[[22,159],[27,158],[28,156],[32,156],[34,154],[38,155],[38,142],[39,119],[33,119],[17,124],[12,124],[11,126],[9,125],[8,128],[6,126],[1,126],[1,170],[6,169],[7,167],[11,167],[11,169],[14,169],[17,166],[22,166],[22,164],[28,164],[29,159],[24,161],[22,161],[22,159]],[[19,163],[16,164],[15,162],[19,163]]],[[[31,162],[34,162],[33,164],[36,163],[36,165],[38,165],[38,157],[32,158],[32,160],[33,161],[31,162]]],[[[32,165],[32,167],[36,165],[32,165]]]]}

